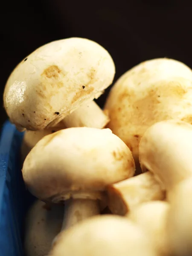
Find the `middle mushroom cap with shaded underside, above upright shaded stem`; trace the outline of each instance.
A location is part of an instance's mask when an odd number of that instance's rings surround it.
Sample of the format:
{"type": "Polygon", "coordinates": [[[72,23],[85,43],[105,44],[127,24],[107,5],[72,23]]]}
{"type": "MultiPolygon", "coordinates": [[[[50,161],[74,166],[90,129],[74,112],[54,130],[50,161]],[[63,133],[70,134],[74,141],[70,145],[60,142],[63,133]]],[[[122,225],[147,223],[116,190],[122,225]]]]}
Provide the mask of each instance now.
{"type": "Polygon", "coordinates": [[[23,163],[29,191],[43,201],[100,199],[108,184],[134,175],[131,151],[110,129],[67,128],[42,138],[23,163]],[[98,198],[99,197],[99,198],[98,198]]]}

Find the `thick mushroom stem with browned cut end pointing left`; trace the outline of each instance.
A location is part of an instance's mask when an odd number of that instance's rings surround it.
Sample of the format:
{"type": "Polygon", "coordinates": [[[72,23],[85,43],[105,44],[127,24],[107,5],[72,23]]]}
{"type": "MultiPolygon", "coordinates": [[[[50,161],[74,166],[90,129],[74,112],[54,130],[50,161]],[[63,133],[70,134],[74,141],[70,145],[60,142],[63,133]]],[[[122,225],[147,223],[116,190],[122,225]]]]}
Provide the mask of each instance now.
{"type": "Polygon", "coordinates": [[[151,172],[108,186],[108,207],[113,214],[125,215],[143,202],[163,200],[165,191],[151,172]]]}

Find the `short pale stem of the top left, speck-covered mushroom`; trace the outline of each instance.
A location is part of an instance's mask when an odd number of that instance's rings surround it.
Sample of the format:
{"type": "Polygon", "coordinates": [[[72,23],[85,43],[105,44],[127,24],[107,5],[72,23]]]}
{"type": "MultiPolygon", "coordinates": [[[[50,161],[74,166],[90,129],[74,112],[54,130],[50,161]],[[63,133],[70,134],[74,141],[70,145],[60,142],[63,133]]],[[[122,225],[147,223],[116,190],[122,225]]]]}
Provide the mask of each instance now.
{"type": "Polygon", "coordinates": [[[108,124],[109,118],[96,102],[91,101],[82,104],[81,107],[66,116],[63,122],[67,128],[83,126],[104,128],[108,124]]]}

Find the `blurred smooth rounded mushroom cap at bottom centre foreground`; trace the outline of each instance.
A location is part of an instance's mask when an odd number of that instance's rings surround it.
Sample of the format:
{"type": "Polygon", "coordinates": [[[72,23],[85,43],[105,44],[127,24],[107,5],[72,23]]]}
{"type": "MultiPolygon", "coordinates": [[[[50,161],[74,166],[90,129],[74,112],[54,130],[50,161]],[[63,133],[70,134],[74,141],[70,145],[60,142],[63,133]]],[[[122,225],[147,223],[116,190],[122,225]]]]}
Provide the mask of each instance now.
{"type": "Polygon", "coordinates": [[[48,256],[157,256],[148,236],[128,219],[91,217],[58,235],[48,256]]]}

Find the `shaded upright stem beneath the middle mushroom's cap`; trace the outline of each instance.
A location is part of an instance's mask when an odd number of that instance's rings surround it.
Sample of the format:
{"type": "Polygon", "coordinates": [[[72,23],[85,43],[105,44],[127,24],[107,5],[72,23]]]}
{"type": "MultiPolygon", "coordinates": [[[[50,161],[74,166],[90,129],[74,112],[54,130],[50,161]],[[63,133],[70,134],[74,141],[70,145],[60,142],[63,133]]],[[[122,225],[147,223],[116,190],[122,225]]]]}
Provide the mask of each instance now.
{"type": "Polygon", "coordinates": [[[66,230],[79,221],[100,213],[98,200],[69,199],[65,202],[64,220],[61,230],[66,230]]]}

